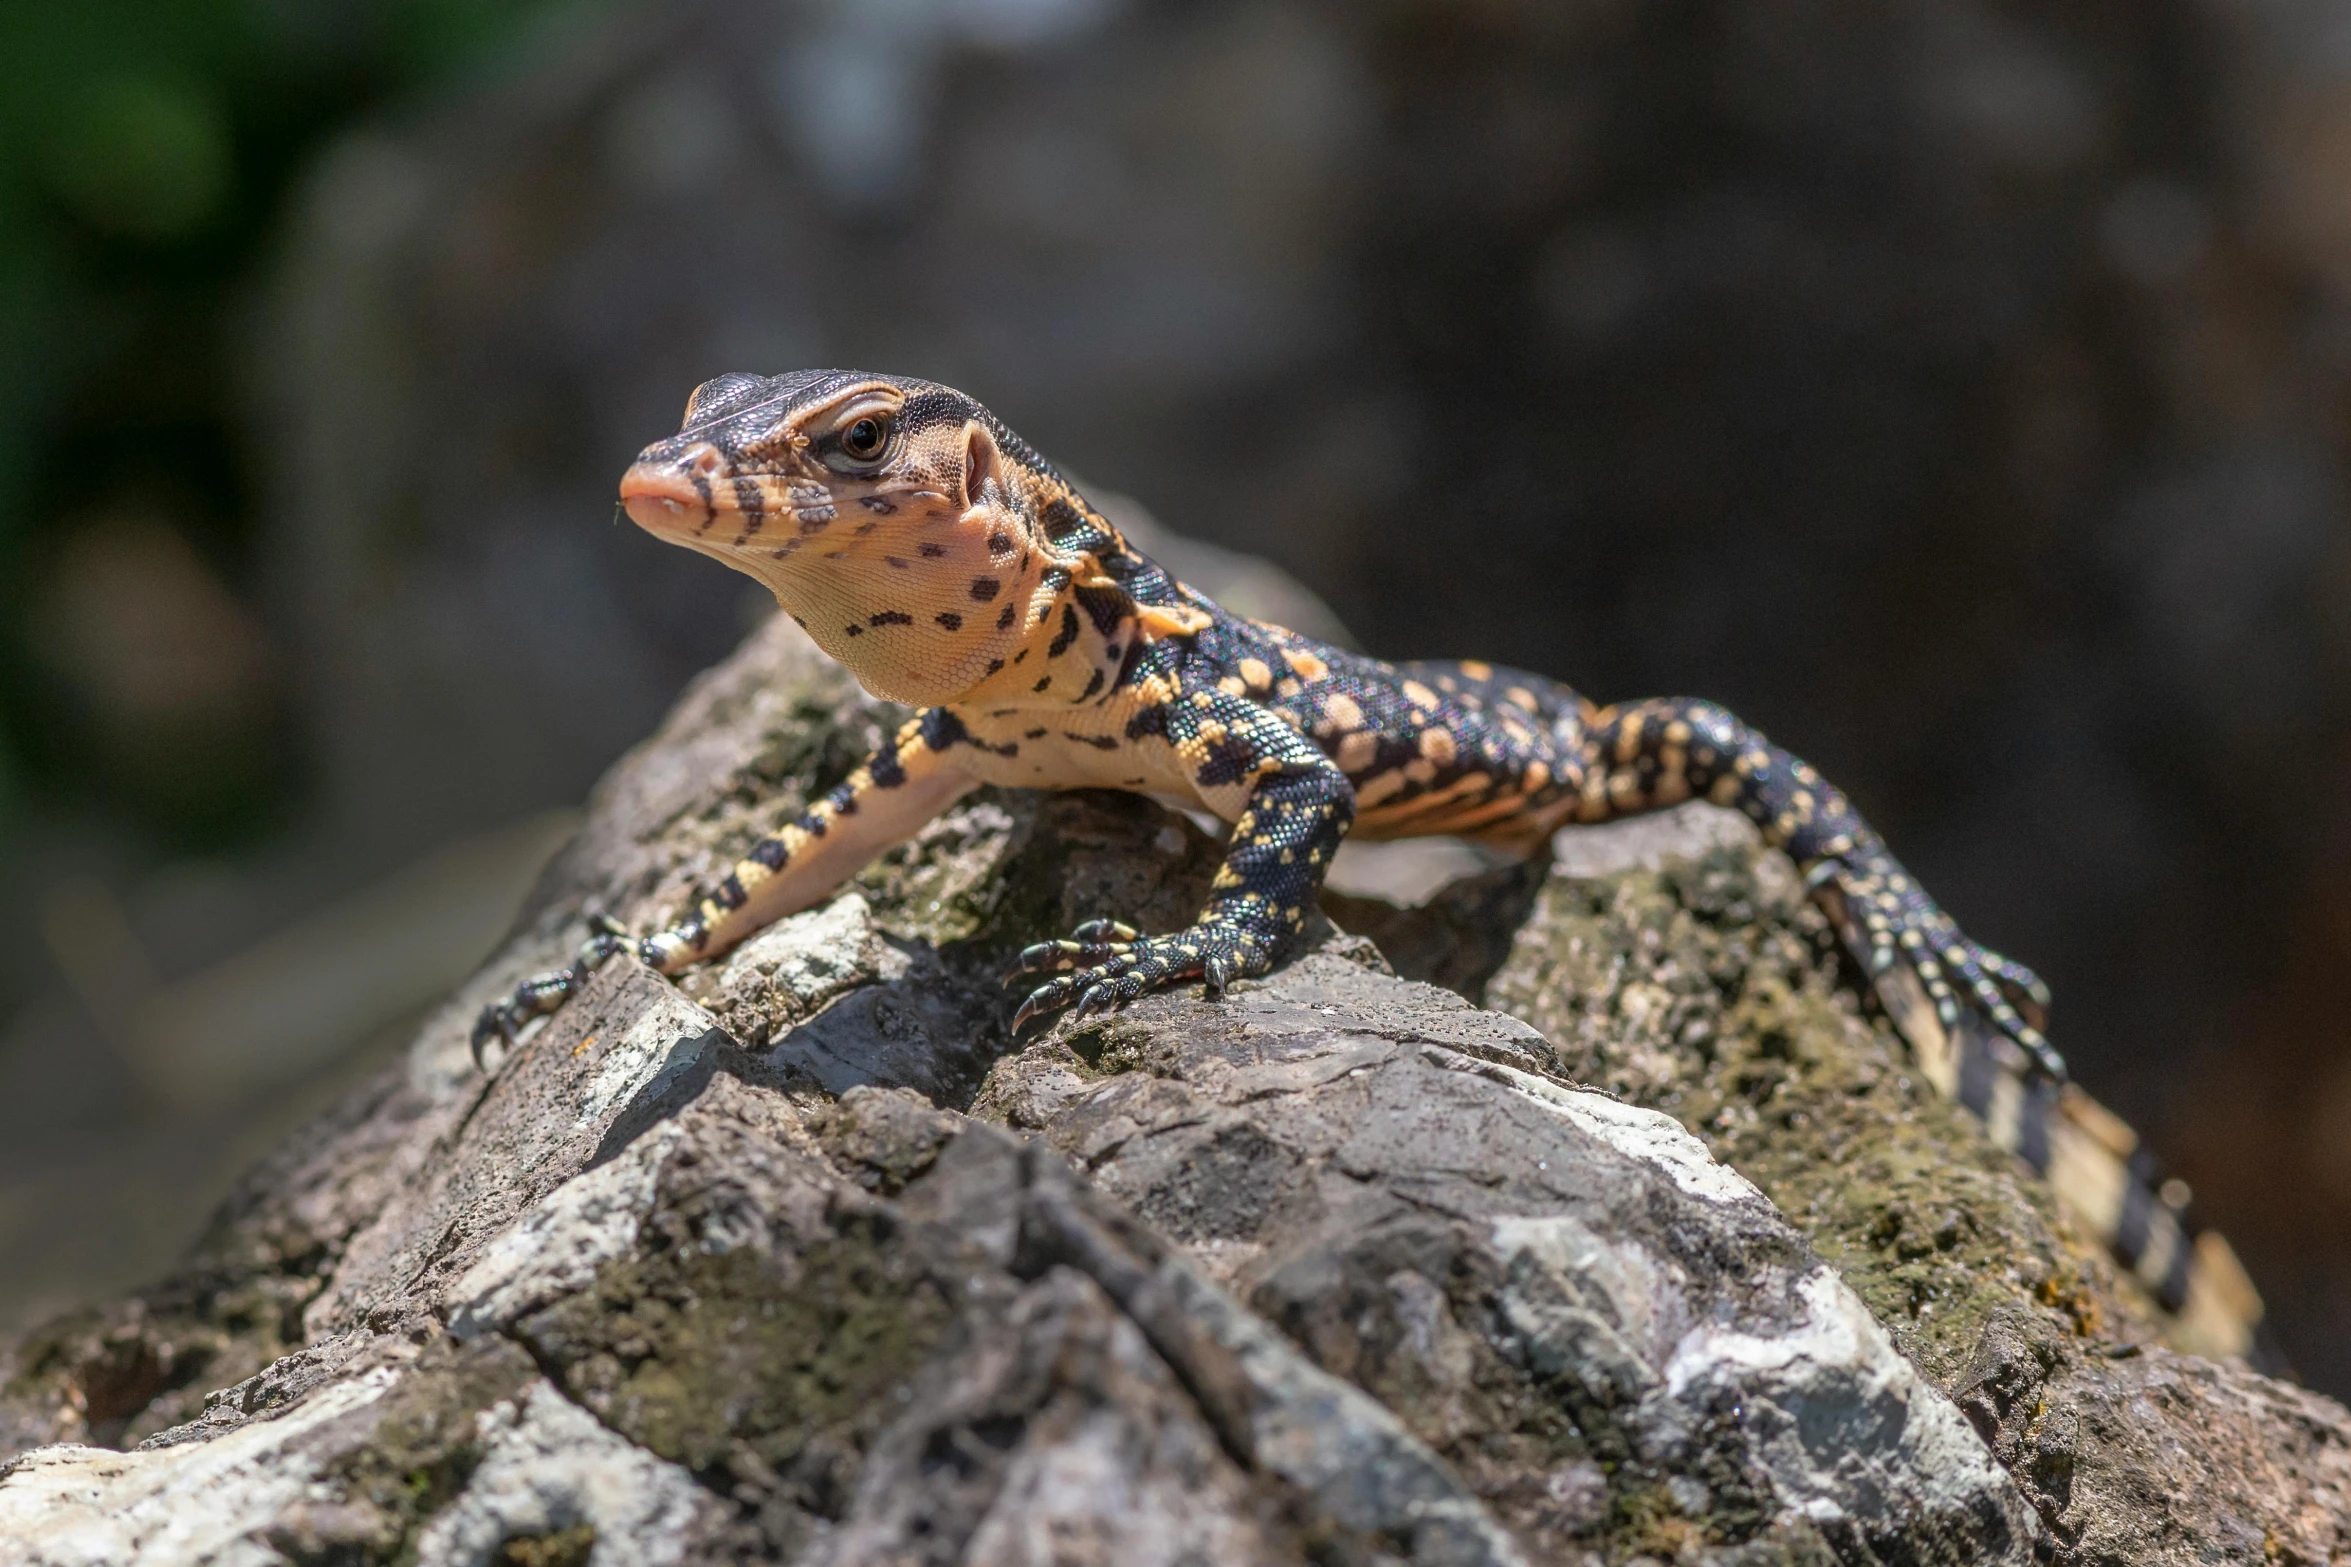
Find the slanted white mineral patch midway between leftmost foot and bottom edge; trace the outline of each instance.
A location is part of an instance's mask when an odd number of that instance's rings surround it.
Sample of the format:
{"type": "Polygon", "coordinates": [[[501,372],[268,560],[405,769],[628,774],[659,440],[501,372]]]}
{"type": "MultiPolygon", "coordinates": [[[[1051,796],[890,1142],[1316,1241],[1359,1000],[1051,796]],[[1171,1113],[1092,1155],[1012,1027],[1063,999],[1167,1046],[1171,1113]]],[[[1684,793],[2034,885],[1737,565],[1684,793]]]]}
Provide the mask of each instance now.
{"type": "Polygon", "coordinates": [[[585,1290],[595,1271],[637,1245],[637,1222],[654,1208],[654,1184],[682,1132],[665,1121],[614,1158],[543,1196],[494,1236],[442,1304],[461,1339],[494,1332],[527,1311],[585,1290]]]}

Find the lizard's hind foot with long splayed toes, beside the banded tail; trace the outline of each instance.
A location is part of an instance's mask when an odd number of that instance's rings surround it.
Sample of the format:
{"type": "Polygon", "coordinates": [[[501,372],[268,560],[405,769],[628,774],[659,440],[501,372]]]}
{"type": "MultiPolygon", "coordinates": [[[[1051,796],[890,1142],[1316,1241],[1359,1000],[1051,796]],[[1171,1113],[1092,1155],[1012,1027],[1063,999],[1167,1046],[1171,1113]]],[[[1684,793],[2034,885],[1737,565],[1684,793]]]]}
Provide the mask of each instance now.
{"type": "Polygon", "coordinates": [[[2041,975],[1961,935],[1925,888],[1883,850],[1853,850],[1822,860],[1806,876],[1810,886],[1834,881],[1860,923],[1860,951],[1871,977],[1907,963],[1935,1003],[1942,1027],[1958,1027],[1958,1008],[1972,1006],[2024,1050],[2034,1071],[2064,1081],[2064,1057],[2041,1031],[2048,1024],[2050,987],[2041,975]]]}

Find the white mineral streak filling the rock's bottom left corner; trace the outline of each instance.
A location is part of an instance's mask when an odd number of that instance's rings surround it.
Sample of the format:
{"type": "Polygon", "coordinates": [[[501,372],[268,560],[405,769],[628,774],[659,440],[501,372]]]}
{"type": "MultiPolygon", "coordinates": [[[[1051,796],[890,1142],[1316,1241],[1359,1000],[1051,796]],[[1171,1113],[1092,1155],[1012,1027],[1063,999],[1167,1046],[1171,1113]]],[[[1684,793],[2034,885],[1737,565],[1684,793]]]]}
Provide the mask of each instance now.
{"type": "Polygon", "coordinates": [[[383,1398],[393,1379],[376,1367],[209,1442],[28,1452],[0,1473],[0,1562],[277,1567],[284,1558],[261,1534],[294,1501],[322,1494],[306,1438],[383,1398]]]}

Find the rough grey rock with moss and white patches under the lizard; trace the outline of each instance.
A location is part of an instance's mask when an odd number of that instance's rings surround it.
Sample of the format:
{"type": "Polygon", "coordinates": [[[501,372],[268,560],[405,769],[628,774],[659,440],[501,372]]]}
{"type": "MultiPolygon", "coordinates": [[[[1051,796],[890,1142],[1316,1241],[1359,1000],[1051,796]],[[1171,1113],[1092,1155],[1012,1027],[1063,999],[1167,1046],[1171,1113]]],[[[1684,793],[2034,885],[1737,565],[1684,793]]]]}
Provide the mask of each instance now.
{"type": "Polygon", "coordinates": [[[1020,942],[1215,846],[980,794],[470,1069],[891,719],[783,620],[701,681],[397,1069],[9,1351],[0,1562],[2351,1555],[2351,1419],[2156,1349],[1716,818],[1013,1041],[1020,942]]]}

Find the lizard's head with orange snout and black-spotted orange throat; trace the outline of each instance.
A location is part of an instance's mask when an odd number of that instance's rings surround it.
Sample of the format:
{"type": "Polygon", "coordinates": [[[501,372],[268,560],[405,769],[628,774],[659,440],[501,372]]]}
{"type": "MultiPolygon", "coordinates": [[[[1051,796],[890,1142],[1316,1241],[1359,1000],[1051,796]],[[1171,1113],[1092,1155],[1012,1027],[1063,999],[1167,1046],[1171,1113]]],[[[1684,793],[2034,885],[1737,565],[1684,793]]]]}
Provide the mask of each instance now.
{"type": "MultiPolygon", "coordinates": [[[[1058,479],[952,388],[863,371],[719,376],[621,479],[644,531],[759,578],[875,695],[947,702],[1009,658],[1058,479]]],[[[1067,580],[1067,576],[1063,576],[1067,580]]]]}

